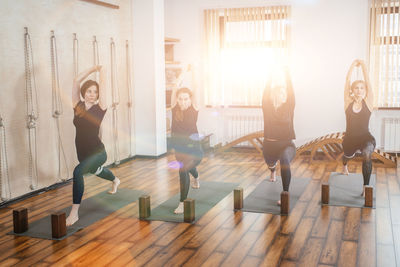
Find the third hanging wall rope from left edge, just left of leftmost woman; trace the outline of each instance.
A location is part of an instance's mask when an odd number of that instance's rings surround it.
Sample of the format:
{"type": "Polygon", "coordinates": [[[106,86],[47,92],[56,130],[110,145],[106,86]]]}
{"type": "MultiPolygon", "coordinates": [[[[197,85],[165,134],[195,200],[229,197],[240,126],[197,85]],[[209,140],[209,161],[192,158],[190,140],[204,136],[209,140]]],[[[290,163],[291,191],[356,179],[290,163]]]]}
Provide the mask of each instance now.
{"type": "Polygon", "coordinates": [[[57,43],[54,31],[51,31],[50,37],[50,55],[51,55],[51,85],[52,85],[52,115],[55,119],[57,126],[57,153],[58,153],[58,180],[65,181],[61,174],[61,157],[64,159],[65,170],[67,175],[68,165],[67,157],[65,156],[64,146],[61,139],[60,131],[60,116],[63,114],[63,107],[60,94],[60,81],[58,74],[58,57],[57,57],[57,43]]]}

